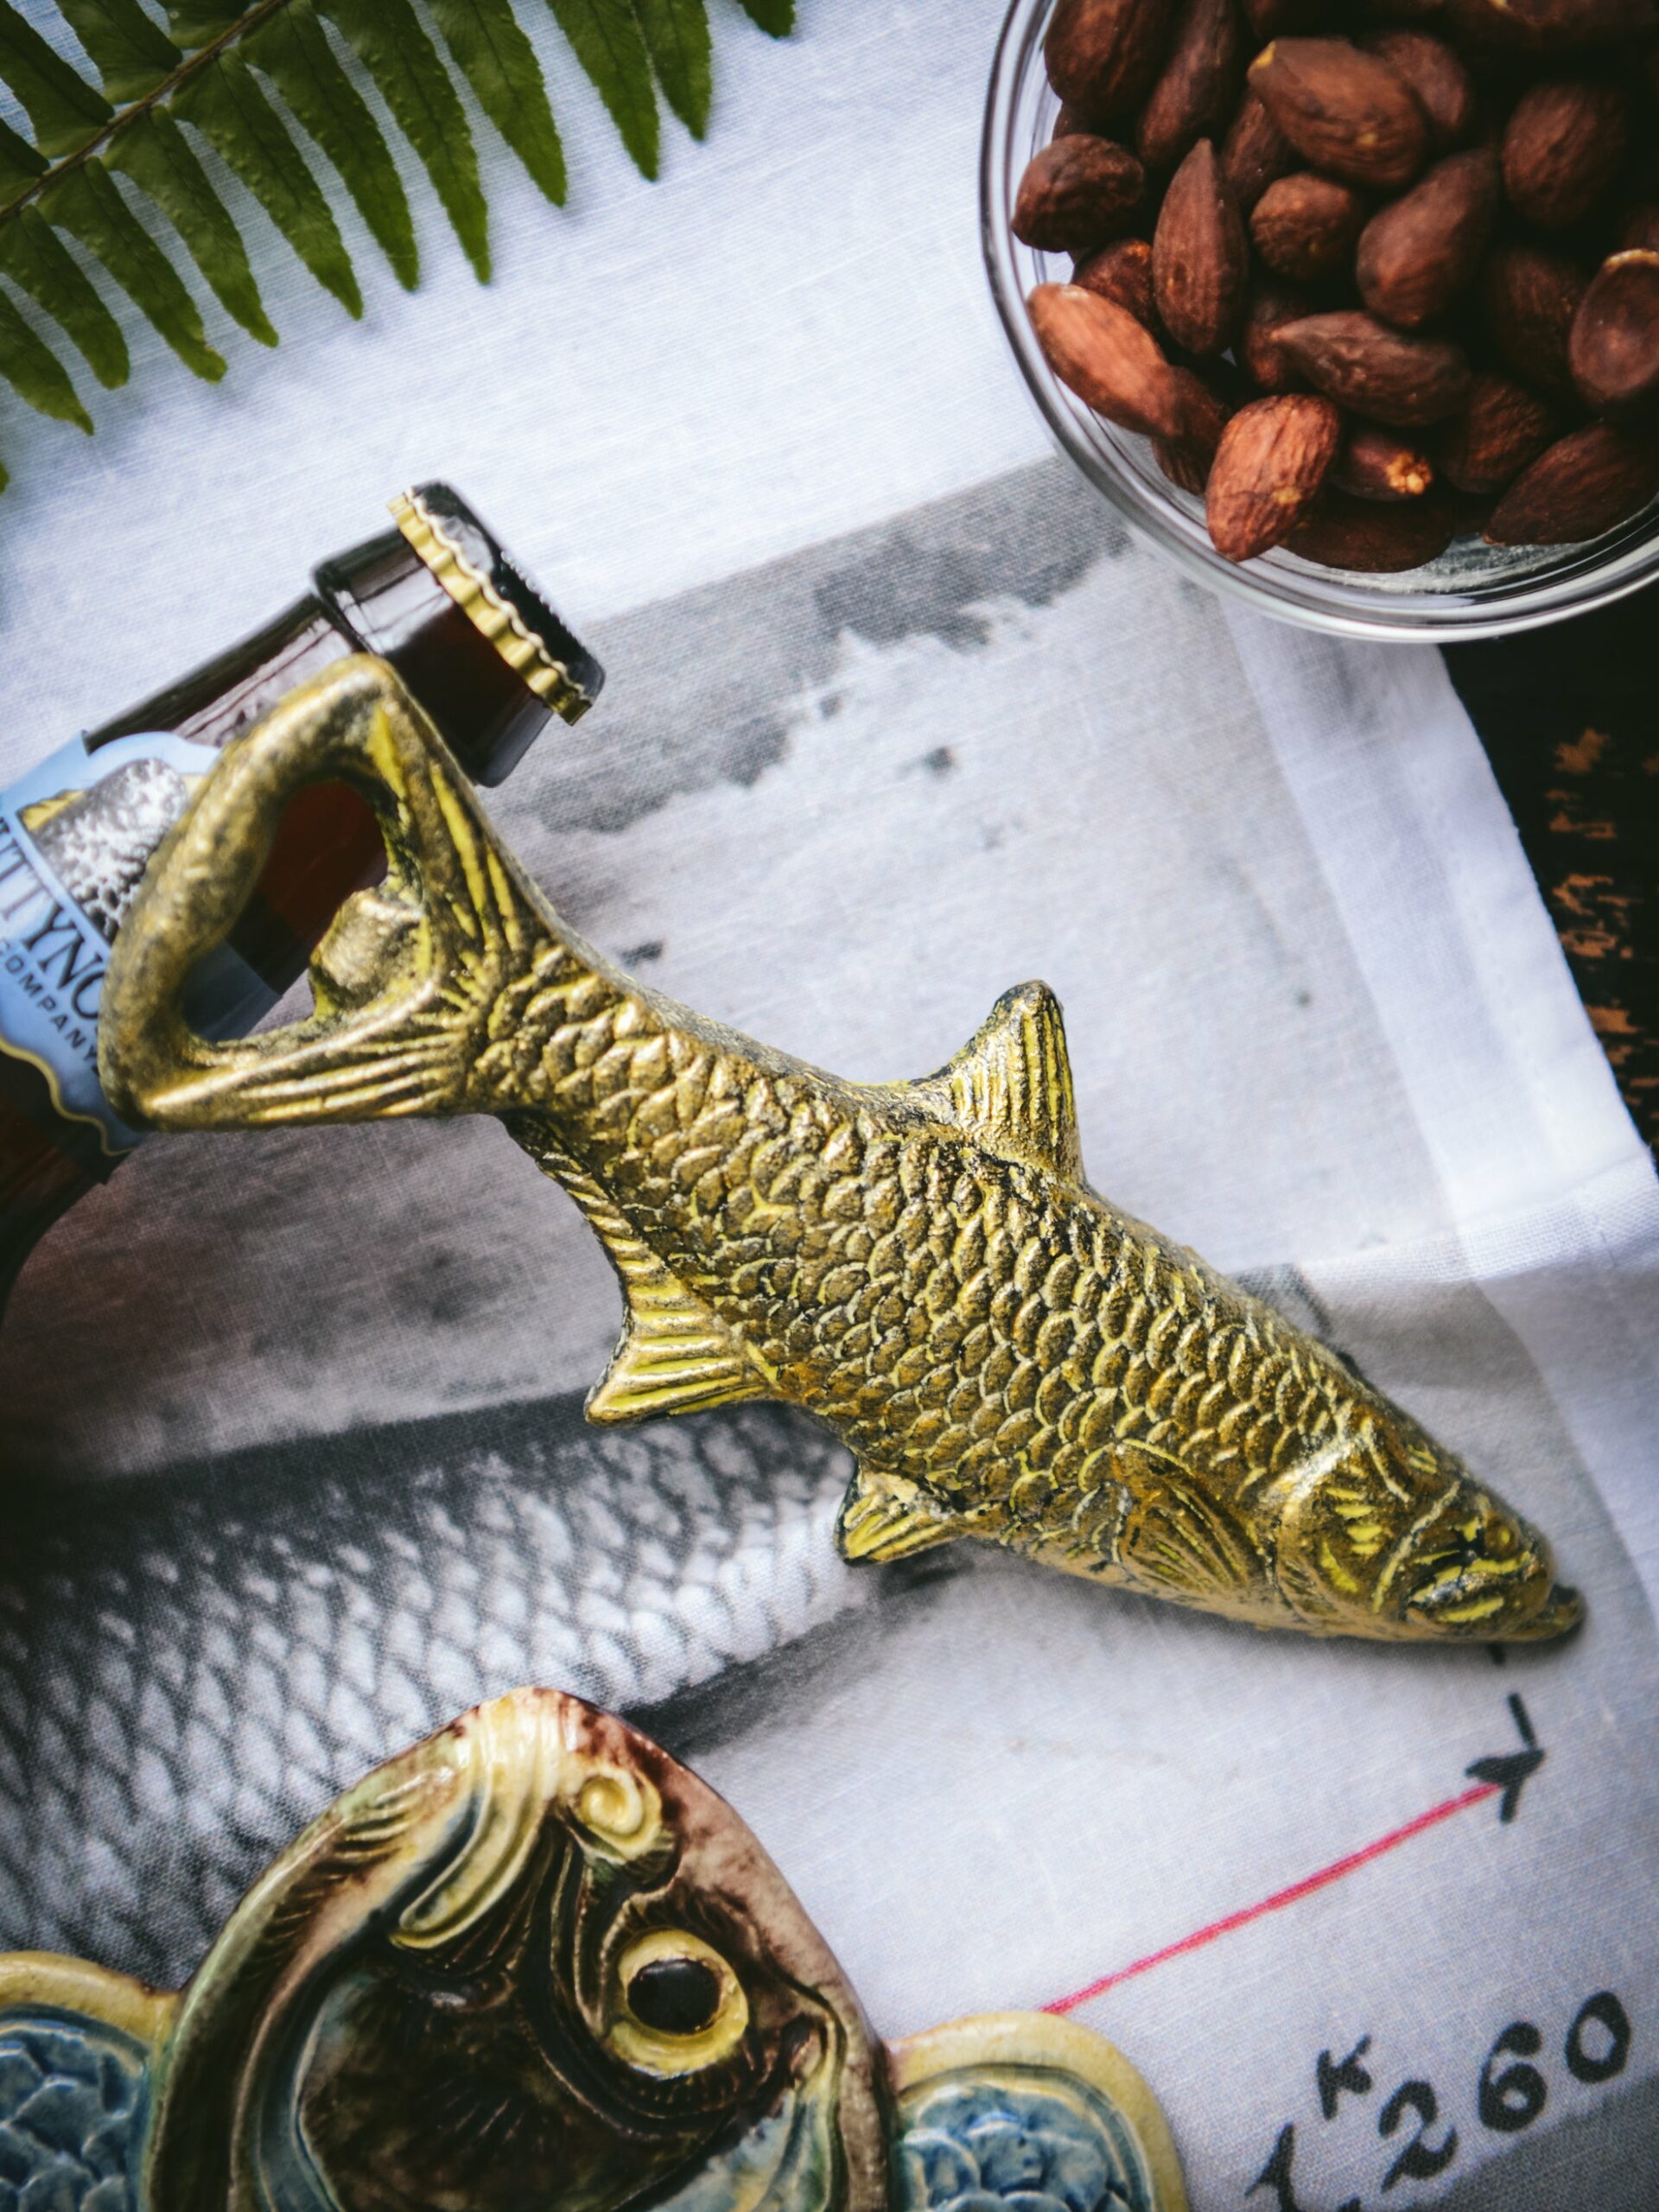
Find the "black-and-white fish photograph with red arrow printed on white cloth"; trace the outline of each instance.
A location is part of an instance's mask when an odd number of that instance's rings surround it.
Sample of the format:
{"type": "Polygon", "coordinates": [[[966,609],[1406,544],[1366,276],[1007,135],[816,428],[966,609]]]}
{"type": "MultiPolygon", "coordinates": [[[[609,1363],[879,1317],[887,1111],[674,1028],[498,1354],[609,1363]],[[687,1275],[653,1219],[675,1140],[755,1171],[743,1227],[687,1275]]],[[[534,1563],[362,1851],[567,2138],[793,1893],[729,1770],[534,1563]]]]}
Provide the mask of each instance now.
{"type": "Polygon", "coordinates": [[[878,2033],[1110,2037],[1199,2212],[1648,2201],[1652,1610],[1234,630],[1152,564],[1040,462],[617,615],[491,818],[628,971],[849,1077],[1048,982],[1093,1186],[1546,1528],[1584,1628],[1312,1641],[971,1540],[849,1566],[807,1416],[584,1425],[617,1285],[491,1121],[157,1139],[0,1338],[0,1949],[175,1986],[338,1790],[546,1683],[730,1798],[878,2033]]]}

